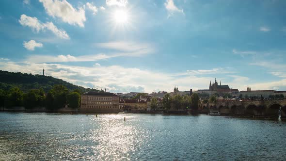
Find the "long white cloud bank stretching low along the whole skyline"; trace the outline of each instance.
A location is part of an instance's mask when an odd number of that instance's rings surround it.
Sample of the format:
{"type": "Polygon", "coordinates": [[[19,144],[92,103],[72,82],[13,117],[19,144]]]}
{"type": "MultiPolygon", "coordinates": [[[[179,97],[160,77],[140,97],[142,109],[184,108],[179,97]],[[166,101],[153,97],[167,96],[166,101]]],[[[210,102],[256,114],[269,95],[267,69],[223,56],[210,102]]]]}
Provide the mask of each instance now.
{"type": "MultiPolygon", "coordinates": [[[[72,56],[66,56],[64,59],[73,59],[72,56]]],[[[207,89],[210,77],[197,77],[188,75],[177,77],[172,73],[156,72],[154,70],[142,70],[135,67],[123,67],[118,65],[111,66],[71,66],[65,64],[36,64],[36,63],[15,63],[1,62],[1,70],[14,72],[24,72],[38,74],[45,66],[45,73],[48,76],[63,79],[74,84],[83,85],[85,87],[103,87],[111,92],[158,92],[172,91],[174,85],[178,85],[180,91],[197,89],[207,89]],[[126,74],[128,73],[128,74],[126,74]],[[163,80],[163,81],[162,81],[163,80]]],[[[286,79],[269,82],[249,83],[248,77],[230,75],[221,78],[229,79],[230,88],[238,88],[245,90],[250,85],[253,90],[263,89],[282,89],[286,88],[286,79]],[[239,83],[238,83],[239,82],[239,83]]],[[[253,82],[253,81],[252,81],[253,82]]]]}

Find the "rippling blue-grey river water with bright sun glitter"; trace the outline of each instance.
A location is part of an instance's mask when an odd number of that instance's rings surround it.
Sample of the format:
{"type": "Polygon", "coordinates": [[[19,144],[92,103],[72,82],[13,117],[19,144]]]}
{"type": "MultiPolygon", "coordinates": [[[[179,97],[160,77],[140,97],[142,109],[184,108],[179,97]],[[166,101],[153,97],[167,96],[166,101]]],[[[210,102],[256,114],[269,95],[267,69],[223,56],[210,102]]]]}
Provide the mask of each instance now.
{"type": "Polygon", "coordinates": [[[285,136],[283,121],[1,112],[0,161],[282,161],[286,160],[285,136]]]}

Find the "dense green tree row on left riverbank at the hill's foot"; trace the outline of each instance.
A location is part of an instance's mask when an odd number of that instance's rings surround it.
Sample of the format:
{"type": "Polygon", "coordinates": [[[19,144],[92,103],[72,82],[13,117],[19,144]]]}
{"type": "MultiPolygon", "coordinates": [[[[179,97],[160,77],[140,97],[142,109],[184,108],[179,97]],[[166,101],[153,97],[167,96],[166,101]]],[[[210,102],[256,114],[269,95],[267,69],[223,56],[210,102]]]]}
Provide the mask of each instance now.
{"type": "Polygon", "coordinates": [[[42,88],[31,89],[26,93],[17,87],[7,91],[0,89],[0,107],[24,106],[26,109],[46,107],[48,110],[57,110],[68,105],[77,108],[80,105],[79,92],[79,89],[71,91],[64,85],[54,85],[47,94],[42,88]]]}

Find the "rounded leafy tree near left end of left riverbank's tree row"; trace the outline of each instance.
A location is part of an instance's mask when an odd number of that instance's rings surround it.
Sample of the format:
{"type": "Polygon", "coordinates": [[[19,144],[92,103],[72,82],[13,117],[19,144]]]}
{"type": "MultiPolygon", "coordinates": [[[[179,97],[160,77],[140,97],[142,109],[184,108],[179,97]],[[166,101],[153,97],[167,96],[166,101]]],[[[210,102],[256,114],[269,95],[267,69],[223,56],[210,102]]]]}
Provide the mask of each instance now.
{"type": "Polygon", "coordinates": [[[14,87],[9,90],[7,96],[8,106],[22,106],[23,105],[23,91],[19,88],[14,87]]]}

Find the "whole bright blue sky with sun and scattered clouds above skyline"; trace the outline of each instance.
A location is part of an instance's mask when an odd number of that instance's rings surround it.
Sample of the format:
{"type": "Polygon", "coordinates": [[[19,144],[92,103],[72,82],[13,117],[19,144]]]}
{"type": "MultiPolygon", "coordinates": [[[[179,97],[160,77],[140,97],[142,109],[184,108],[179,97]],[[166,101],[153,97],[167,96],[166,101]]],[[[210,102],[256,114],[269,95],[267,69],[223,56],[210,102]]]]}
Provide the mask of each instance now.
{"type": "Polygon", "coordinates": [[[110,92],[286,90],[285,0],[1,0],[0,70],[110,92]]]}

